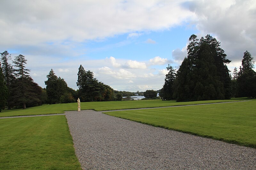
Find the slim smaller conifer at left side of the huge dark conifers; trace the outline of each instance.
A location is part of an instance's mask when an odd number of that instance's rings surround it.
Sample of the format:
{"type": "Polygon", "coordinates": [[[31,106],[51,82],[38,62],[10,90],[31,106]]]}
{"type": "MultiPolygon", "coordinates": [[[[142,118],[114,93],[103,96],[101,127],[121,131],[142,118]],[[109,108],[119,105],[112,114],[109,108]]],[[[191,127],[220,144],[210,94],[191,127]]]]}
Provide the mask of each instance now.
{"type": "Polygon", "coordinates": [[[174,99],[172,85],[176,78],[176,72],[170,64],[168,64],[166,69],[169,70],[169,72],[165,75],[164,85],[159,92],[159,96],[162,98],[162,100],[172,100],[174,99]]]}

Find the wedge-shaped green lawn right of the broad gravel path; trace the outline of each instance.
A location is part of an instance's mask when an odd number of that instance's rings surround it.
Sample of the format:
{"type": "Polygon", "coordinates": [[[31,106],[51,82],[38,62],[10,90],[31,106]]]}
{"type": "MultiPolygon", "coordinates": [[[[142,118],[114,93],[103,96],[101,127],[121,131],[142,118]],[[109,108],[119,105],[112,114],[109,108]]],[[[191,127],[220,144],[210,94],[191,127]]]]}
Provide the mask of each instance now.
{"type": "Polygon", "coordinates": [[[256,148],[256,100],[105,112],[156,127],[256,148]]]}

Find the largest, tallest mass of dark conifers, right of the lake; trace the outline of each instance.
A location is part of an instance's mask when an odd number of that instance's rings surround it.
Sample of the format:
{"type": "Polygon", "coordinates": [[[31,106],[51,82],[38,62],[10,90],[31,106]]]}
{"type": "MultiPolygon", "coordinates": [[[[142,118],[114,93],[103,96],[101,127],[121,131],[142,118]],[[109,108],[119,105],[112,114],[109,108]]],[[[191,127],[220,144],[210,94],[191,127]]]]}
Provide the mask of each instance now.
{"type": "Polygon", "coordinates": [[[186,57],[173,82],[173,97],[177,101],[230,99],[232,84],[224,50],[210,35],[198,42],[191,35],[186,57]]]}

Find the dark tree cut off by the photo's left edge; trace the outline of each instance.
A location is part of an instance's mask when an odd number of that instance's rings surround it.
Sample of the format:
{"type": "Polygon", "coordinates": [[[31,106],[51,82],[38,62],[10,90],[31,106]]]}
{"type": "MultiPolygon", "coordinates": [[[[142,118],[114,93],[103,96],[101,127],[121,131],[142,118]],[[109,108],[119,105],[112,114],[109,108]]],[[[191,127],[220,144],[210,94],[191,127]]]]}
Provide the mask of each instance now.
{"type": "Polygon", "coordinates": [[[4,109],[7,100],[8,89],[4,82],[4,74],[0,62],[0,112],[4,109]]]}

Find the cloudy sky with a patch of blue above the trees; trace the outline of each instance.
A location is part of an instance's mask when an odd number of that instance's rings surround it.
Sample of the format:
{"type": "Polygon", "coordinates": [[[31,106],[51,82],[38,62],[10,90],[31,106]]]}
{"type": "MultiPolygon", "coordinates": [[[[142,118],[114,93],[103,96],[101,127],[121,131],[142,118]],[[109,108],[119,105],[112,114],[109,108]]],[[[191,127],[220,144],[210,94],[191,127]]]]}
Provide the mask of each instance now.
{"type": "Polygon", "coordinates": [[[24,55],[43,88],[53,69],[78,89],[82,65],[114,90],[159,90],[168,64],[178,70],[187,56],[192,34],[220,41],[231,74],[246,50],[256,58],[255,0],[1,0],[0,6],[0,52],[12,60],[24,55]]]}

